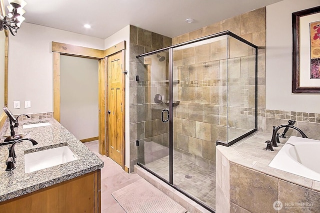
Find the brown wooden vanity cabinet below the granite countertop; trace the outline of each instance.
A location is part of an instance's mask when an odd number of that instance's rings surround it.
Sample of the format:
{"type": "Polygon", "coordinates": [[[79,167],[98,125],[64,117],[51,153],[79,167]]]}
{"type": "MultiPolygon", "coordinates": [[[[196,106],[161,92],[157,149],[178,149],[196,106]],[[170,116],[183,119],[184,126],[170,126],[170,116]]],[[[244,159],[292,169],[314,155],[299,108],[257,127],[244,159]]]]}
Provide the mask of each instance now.
{"type": "Polygon", "coordinates": [[[100,170],[0,202],[0,213],[100,213],[100,170]]]}

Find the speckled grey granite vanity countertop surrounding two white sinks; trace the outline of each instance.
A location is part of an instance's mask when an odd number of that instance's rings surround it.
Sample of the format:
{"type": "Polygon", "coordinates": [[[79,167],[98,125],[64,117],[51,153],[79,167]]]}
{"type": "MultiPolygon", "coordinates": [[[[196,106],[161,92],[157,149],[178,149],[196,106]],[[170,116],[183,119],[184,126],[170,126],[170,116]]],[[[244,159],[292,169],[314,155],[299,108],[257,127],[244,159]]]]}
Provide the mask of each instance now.
{"type": "MultiPolygon", "coordinates": [[[[2,136],[10,135],[8,122],[3,127],[2,136]]],[[[8,147],[0,146],[0,202],[34,192],[36,190],[70,180],[81,175],[93,172],[103,167],[103,161],[86,148],[75,136],[66,130],[53,118],[19,121],[19,127],[14,128],[15,134],[22,134],[24,138],[31,138],[38,142],[32,146],[30,141],[22,141],[15,145],[15,169],[5,171],[5,161],[8,158],[8,147]],[[49,122],[50,126],[23,129],[23,124],[49,122]],[[78,159],[42,169],[24,173],[24,153],[32,150],[40,151],[61,146],[66,143],[77,155],[78,159]]]]}

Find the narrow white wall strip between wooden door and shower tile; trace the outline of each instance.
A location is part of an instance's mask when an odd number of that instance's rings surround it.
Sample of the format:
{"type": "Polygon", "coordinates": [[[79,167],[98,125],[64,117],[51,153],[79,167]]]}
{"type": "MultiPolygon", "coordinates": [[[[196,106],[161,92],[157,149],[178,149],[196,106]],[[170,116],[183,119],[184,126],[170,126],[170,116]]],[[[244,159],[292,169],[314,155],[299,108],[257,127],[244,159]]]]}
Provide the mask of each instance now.
{"type": "Polygon", "coordinates": [[[125,75],[125,166],[129,168],[130,166],[130,134],[129,134],[129,41],[130,41],[130,25],[125,26],[120,29],[113,35],[109,36],[104,40],[104,49],[107,49],[115,44],[125,40],[126,41],[126,49],[125,49],[125,70],[128,71],[128,74],[125,75]]]}

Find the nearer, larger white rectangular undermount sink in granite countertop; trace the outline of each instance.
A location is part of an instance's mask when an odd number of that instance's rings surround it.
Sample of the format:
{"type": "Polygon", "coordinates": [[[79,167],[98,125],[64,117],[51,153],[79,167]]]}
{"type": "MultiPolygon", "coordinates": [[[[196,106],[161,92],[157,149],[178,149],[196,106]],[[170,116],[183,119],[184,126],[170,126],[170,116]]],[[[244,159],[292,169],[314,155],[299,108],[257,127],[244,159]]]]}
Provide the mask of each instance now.
{"type": "Polygon", "coordinates": [[[24,172],[30,173],[77,160],[68,146],[24,154],[24,172]]]}

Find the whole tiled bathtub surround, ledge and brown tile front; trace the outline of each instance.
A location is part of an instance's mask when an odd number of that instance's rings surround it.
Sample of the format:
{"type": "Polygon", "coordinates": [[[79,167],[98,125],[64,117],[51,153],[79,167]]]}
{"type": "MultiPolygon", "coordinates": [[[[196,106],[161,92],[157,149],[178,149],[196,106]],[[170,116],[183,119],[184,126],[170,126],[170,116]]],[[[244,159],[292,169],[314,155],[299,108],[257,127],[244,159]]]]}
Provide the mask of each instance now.
{"type": "Polygon", "coordinates": [[[283,205],[279,213],[318,211],[319,182],[268,167],[283,146],[266,151],[269,139],[270,133],[258,132],[231,147],[217,146],[216,212],[275,212],[276,201],[283,205]]]}

